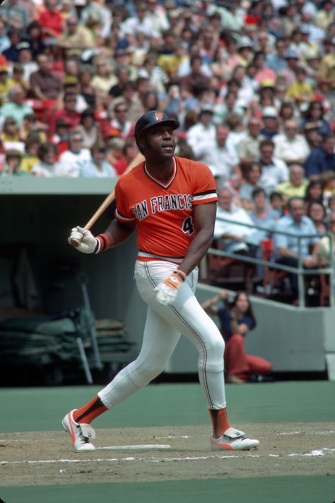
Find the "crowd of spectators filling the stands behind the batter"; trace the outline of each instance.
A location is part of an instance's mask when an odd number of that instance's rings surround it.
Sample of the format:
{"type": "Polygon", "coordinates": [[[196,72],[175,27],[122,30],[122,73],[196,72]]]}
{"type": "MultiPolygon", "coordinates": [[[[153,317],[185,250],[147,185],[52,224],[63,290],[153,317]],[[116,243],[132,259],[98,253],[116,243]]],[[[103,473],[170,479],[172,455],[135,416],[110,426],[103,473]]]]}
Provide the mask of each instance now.
{"type": "MultiPolygon", "coordinates": [[[[180,121],[176,154],[211,168],[219,212],[268,226],[295,221],[301,200],[327,230],[334,0],[1,4],[0,176],[117,177],[137,154],[136,120],[155,109],[180,121]]],[[[225,247],[254,254],[259,233],[235,230],[225,247]]]]}

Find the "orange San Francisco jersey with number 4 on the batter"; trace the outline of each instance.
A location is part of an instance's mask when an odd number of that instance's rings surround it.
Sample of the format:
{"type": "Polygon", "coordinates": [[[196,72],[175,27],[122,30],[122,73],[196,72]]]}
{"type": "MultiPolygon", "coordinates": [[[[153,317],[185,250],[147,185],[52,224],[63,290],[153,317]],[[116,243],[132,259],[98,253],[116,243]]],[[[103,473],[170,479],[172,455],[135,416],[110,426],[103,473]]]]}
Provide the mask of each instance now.
{"type": "MultiPolygon", "coordinates": [[[[193,207],[216,202],[218,197],[208,166],[180,157],[172,160],[167,183],[153,178],[144,162],[119,178],[115,216],[122,223],[136,221],[140,252],[183,258],[196,235],[193,207]]],[[[148,259],[139,256],[138,260],[148,259]]]]}

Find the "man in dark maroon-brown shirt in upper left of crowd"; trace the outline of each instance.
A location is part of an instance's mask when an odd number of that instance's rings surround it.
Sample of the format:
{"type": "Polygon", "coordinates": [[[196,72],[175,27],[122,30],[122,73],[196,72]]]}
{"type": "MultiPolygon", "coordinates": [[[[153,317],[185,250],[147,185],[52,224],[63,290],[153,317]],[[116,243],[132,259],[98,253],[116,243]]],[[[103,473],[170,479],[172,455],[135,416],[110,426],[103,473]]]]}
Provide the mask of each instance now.
{"type": "Polygon", "coordinates": [[[63,91],[63,83],[51,70],[52,62],[47,54],[37,56],[38,70],[30,75],[30,88],[39,100],[56,100],[63,91]]]}

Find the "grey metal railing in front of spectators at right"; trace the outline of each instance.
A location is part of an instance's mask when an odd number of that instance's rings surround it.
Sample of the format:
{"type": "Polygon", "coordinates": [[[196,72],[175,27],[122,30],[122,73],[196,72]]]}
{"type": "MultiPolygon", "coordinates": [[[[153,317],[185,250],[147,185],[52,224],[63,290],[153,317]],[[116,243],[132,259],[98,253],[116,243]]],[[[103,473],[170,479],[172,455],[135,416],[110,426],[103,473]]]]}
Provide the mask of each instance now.
{"type": "Polygon", "coordinates": [[[295,235],[293,233],[284,232],[284,231],[276,231],[275,229],[266,229],[261,226],[251,225],[251,224],[242,224],[241,222],[236,222],[229,219],[224,219],[222,217],[217,217],[217,220],[225,221],[230,224],[240,225],[242,227],[247,227],[249,229],[257,229],[259,231],[263,231],[269,234],[269,236],[273,237],[275,234],[281,234],[282,236],[289,236],[290,238],[295,237],[298,239],[298,267],[290,267],[288,265],[278,264],[274,260],[264,260],[261,258],[253,258],[247,255],[241,255],[240,253],[233,253],[224,250],[216,250],[215,248],[208,248],[207,255],[216,255],[218,257],[232,258],[234,260],[238,260],[240,262],[247,262],[249,264],[261,265],[265,267],[271,267],[271,269],[277,269],[284,272],[290,272],[291,274],[297,274],[298,276],[298,299],[299,299],[299,307],[305,307],[305,276],[312,276],[317,274],[324,274],[325,276],[329,276],[329,306],[334,307],[335,305],[335,293],[334,293],[334,257],[333,257],[333,247],[331,242],[331,236],[329,233],[324,234],[302,234],[295,235]],[[301,255],[301,241],[306,238],[322,238],[327,236],[329,239],[329,267],[315,268],[315,269],[305,269],[302,263],[302,255],[301,255]]]}

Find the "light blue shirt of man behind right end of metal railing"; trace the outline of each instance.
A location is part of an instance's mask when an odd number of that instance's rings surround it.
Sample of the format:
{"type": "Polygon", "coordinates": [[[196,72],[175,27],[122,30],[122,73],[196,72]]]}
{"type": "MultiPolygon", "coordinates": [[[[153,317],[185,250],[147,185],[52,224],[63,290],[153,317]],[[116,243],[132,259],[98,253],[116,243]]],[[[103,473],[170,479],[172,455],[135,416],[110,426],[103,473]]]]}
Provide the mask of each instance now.
{"type": "Polygon", "coordinates": [[[282,216],[276,222],[274,227],[274,247],[278,255],[278,248],[288,248],[296,255],[299,254],[299,240],[297,236],[304,236],[305,234],[312,235],[312,238],[302,238],[300,239],[300,251],[302,258],[310,255],[309,247],[310,245],[315,245],[319,242],[319,237],[317,229],[313,224],[312,220],[308,216],[302,216],[300,224],[297,224],[292,216],[285,215],[282,216]],[[290,236],[284,236],[283,234],[277,234],[276,231],[287,232],[290,236]]]}

